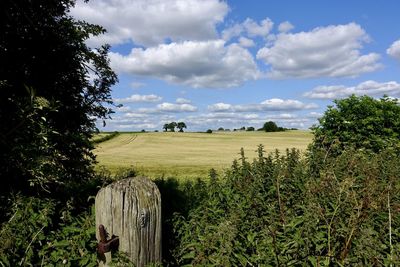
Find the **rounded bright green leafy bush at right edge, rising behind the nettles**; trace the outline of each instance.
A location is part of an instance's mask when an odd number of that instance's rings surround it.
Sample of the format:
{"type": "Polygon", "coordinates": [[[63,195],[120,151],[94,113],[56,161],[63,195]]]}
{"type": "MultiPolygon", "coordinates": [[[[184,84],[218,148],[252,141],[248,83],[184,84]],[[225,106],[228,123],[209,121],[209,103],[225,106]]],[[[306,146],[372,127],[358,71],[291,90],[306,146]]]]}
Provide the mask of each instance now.
{"type": "Polygon", "coordinates": [[[400,149],[400,106],[397,99],[384,96],[350,96],[335,100],[319,125],[313,127],[315,148],[340,152],[363,148],[378,152],[400,149]]]}

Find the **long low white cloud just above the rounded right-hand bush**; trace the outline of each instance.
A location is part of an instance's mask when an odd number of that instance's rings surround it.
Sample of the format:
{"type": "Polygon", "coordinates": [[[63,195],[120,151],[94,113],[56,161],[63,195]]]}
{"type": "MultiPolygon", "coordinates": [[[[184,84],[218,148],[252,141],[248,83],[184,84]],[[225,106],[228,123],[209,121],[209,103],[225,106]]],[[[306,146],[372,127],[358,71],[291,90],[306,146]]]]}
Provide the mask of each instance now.
{"type": "Polygon", "coordinates": [[[379,83],[376,81],[365,81],[356,86],[331,85],[318,86],[306,92],[305,97],[314,99],[344,98],[349,95],[382,96],[384,94],[400,96],[400,84],[395,81],[379,83]]]}

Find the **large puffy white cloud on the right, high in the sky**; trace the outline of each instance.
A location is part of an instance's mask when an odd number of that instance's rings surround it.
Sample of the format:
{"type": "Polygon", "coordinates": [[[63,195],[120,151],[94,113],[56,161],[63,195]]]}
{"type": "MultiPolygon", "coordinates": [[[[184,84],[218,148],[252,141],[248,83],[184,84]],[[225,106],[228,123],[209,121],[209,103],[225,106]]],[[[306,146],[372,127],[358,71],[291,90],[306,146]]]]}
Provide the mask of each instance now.
{"type": "Polygon", "coordinates": [[[271,78],[355,77],[381,67],[378,54],[361,54],[368,39],[355,23],[282,33],[257,58],[270,66],[271,78]]]}

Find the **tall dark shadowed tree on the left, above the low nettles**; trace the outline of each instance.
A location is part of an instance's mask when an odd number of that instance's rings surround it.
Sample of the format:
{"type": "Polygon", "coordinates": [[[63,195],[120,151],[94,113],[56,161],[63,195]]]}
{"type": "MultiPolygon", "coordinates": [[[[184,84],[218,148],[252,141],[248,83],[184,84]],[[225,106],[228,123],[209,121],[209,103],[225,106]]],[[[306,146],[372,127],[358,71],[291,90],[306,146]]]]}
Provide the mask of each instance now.
{"type": "Polygon", "coordinates": [[[95,118],[111,113],[108,47],[100,26],[68,15],[71,0],[0,4],[0,176],[6,187],[49,189],[88,178],[95,118]],[[95,77],[93,80],[89,77],[95,77]],[[39,188],[39,187],[37,187],[39,188]]]}

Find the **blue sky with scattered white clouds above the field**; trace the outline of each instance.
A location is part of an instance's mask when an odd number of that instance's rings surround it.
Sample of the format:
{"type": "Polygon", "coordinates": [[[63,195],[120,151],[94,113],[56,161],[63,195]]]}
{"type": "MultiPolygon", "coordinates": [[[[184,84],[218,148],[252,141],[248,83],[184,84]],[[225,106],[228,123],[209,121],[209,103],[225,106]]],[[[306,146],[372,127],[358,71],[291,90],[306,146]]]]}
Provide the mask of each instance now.
{"type": "Polygon", "coordinates": [[[101,131],[308,129],[334,99],[400,97],[398,0],[91,0],[119,83],[101,131]]]}

